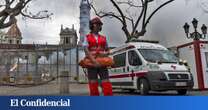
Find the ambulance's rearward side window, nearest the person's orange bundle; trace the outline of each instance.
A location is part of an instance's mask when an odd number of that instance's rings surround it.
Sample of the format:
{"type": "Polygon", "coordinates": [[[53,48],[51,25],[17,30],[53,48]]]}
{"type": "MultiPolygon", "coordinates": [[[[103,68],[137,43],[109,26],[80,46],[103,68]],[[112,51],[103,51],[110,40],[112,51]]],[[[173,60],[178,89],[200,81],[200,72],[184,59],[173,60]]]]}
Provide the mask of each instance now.
{"type": "Polygon", "coordinates": [[[118,54],[113,56],[115,67],[126,66],[126,53],[118,54]]]}

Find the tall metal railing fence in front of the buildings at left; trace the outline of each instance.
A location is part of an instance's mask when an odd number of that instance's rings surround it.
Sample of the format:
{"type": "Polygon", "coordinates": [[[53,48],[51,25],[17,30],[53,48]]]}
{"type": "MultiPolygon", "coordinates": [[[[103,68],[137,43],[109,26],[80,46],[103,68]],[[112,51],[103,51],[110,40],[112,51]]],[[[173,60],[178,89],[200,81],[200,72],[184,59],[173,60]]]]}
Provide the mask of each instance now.
{"type": "Polygon", "coordinates": [[[68,71],[78,77],[77,49],[62,46],[0,49],[0,84],[38,84],[68,71]]]}

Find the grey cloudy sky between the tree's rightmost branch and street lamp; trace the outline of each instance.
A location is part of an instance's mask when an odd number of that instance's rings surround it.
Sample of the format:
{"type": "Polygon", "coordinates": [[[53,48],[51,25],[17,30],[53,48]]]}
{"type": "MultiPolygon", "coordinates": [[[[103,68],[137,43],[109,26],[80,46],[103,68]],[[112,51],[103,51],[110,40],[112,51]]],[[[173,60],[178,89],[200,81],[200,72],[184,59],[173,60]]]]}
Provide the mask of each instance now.
{"type": "MultiPolygon", "coordinates": [[[[190,42],[186,38],[183,25],[188,22],[190,32],[193,32],[191,21],[197,18],[199,21],[198,31],[201,32],[201,25],[208,25],[205,20],[208,14],[200,7],[201,0],[176,0],[160,10],[151,20],[148,33],[149,39],[157,38],[161,44],[172,47],[190,42]]],[[[206,2],[208,4],[208,1],[206,2]]],[[[207,5],[208,6],[208,5],[207,5]]]]}

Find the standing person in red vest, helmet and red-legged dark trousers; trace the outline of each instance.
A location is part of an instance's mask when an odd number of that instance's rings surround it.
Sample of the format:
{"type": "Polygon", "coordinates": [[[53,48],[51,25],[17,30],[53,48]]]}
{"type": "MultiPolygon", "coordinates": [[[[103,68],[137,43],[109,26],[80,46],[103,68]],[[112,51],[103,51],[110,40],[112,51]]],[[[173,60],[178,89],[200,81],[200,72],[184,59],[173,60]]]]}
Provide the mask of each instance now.
{"type": "Polygon", "coordinates": [[[93,67],[87,68],[89,90],[91,96],[99,96],[98,76],[101,79],[101,87],[104,96],[111,96],[112,85],[109,81],[109,73],[106,67],[102,67],[95,59],[96,56],[106,56],[109,54],[109,48],[106,37],[99,34],[102,30],[102,21],[95,17],[90,20],[90,33],[86,35],[83,46],[86,56],[93,62],[93,67]]]}

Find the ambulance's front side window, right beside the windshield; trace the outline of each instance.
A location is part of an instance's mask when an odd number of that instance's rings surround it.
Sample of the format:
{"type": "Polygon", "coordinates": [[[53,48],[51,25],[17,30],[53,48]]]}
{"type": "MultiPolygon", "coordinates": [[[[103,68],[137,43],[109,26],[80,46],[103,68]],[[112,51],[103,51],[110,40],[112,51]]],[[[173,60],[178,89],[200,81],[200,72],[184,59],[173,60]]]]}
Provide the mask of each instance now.
{"type": "Polygon", "coordinates": [[[129,60],[129,64],[132,66],[142,65],[141,59],[134,50],[128,52],[128,60],[129,60]]]}

